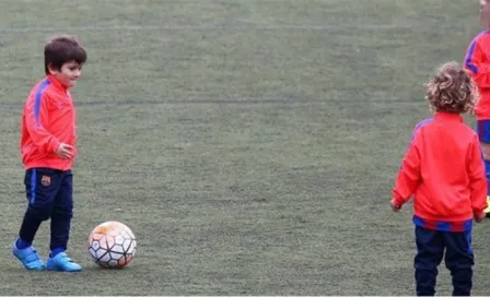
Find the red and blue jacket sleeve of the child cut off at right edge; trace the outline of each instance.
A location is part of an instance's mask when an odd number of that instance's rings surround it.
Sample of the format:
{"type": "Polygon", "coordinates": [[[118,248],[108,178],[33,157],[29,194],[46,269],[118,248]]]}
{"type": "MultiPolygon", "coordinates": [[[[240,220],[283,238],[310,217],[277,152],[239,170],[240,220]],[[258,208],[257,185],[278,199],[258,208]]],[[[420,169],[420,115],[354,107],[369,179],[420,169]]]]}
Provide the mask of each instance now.
{"type": "MultiPolygon", "coordinates": [[[[475,83],[479,87],[490,87],[490,63],[481,43],[474,39],[465,57],[465,69],[469,70],[475,83]]],[[[489,49],[490,50],[490,49],[489,49]]]]}

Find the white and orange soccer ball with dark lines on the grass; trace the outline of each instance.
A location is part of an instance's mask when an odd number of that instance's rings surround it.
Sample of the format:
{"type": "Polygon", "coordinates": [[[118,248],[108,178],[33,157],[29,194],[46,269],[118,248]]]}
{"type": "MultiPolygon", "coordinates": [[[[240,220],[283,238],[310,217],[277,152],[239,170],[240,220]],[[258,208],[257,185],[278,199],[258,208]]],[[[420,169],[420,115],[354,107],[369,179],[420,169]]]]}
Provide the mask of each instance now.
{"type": "Polygon", "coordinates": [[[102,223],[89,236],[89,254],[101,268],[124,268],[136,254],[135,234],[122,223],[102,223]]]}

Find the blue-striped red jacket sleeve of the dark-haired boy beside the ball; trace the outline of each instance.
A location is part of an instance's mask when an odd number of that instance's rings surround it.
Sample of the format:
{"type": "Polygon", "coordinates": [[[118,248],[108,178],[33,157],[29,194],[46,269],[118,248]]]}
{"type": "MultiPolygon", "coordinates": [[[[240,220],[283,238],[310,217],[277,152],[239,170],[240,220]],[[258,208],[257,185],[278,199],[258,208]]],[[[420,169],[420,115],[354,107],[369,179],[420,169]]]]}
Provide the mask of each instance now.
{"type": "Polygon", "coordinates": [[[28,98],[25,109],[25,126],[34,144],[47,153],[55,153],[60,142],[46,129],[49,124],[49,97],[43,93],[39,97],[28,98]]]}

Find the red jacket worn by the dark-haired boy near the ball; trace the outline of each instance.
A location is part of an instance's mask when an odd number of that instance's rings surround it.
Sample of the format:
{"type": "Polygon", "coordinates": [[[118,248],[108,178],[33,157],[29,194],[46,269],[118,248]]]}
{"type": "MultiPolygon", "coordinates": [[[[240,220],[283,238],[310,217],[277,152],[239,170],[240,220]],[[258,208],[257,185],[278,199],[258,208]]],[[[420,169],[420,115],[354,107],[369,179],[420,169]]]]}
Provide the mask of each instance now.
{"type": "Polygon", "coordinates": [[[69,91],[48,75],[31,91],[22,117],[21,154],[24,167],[69,170],[73,159],[56,155],[60,143],[74,147],[75,110],[69,91]]]}

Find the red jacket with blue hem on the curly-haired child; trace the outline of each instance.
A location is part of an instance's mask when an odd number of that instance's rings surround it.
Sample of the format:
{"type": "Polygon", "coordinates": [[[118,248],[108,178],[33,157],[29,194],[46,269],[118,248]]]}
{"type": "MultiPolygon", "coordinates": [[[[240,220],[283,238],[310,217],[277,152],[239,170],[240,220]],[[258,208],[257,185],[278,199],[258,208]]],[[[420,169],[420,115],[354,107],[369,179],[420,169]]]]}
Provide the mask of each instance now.
{"type": "Polygon", "coordinates": [[[487,179],[477,134],[463,117],[438,112],[420,122],[393,190],[402,205],[413,195],[418,226],[462,231],[487,207],[487,179]]]}

